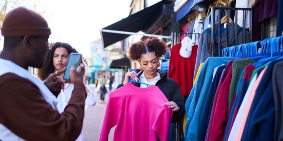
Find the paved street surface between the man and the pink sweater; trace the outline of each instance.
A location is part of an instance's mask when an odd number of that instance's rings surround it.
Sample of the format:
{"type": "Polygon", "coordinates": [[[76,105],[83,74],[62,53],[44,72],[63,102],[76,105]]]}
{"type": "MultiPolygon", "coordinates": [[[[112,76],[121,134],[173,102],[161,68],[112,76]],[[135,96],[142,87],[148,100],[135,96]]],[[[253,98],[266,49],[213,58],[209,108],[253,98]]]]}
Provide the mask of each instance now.
{"type": "MultiPolygon", "coordinates": [[[[95,86],[90,85],[90,87],[93,90],[95,90],[94,88],[95,86]]],[[[109,93],[105,95],[105,103],[100,103],[99,102],[100,94],[96,94],[96,104],[94,106],[87,107],[85,110],[85,117],[84,117],[82,131],[83,131],[84,139],[86,141],[99,140],[105,109],[108,101],[108,95],[109,93]]],[[[114,128],[112,128],[109,133],[109,140],[113,140],[113,132],[114,132],[114,128]]]]}

